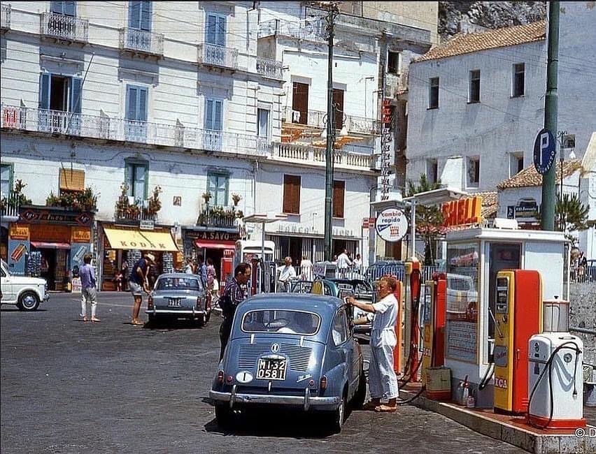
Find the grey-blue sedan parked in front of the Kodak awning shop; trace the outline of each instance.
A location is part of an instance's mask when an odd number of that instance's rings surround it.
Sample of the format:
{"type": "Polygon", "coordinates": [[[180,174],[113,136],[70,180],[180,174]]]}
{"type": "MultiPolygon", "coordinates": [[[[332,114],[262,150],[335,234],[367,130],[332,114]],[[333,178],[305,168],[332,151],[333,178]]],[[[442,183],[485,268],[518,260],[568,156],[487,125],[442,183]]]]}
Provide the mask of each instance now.
{"type": "Polygon", "coordinates": [[[150,293],[147,310],[150,322],[157,318],[190,318],[204,325],[211,307],[201,279],[194,274],[162,274],[150,293]]]}

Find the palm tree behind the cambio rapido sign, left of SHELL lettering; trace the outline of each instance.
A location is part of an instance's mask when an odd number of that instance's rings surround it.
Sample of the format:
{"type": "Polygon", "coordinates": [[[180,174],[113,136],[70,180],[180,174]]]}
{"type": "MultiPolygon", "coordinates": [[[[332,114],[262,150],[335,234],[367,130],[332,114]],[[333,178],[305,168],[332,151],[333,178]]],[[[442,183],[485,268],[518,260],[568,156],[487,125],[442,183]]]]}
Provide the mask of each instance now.
{"type": "MultiPolygon", "coordinates": [[[[426,191],[432,191],[433,189],[439,189],[441,187],[441,180],[437,182],[430,182],[426,175],[420,175],[420,182],[418,185],[413,184],[412,180],[408,180],[408,197],[414,194],[426,191]]],[[[406,210],[409,214],[409,210],[406,210]]],[[[432,205],[416,205],[416,232],[423,235],[425,239],[425,265],[432,265],[434,263],[434,244],[437,241],[439,235],[439,229],[443,225],[443,213],[441,207],[432,205]]]]}

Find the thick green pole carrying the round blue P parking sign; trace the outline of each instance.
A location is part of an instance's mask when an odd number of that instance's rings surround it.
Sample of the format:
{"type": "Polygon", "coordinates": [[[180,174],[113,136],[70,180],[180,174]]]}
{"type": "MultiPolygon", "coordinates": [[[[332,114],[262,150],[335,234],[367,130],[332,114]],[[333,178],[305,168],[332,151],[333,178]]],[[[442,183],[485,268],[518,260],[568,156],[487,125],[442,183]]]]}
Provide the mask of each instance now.
{"type": "MultiPolygon", "coordinates": [[[[548,59],[546,63],[546,96],[544,98],[544,128],[557,136],[559,69],[559,2],[548,3],[548,59]]],[[[559,152],[562,152],[560,150],[559,152]]],[[[554,162],[557,162],[556,156],[554,162]]],[[[557,166],[542,175],[542,230],[555,230],[555,177],[557,166]]],[[[561,169],[562,170],[562,169],[561,169]]]]}

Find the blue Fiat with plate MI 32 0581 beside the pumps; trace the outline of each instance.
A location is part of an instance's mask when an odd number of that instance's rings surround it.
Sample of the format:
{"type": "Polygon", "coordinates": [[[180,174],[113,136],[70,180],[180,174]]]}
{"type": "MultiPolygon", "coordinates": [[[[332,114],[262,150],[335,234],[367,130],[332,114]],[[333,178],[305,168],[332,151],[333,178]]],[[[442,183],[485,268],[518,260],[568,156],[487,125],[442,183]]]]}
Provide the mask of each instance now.
{"type": "Polygon", "coordinates": [[[209,396],[227,427],[236,410],[320,411],[339,432],[346,407],[366,397],[362,350],[350,308],[332,296],[270,293],[236,309],[232,334],[209,396]]]}

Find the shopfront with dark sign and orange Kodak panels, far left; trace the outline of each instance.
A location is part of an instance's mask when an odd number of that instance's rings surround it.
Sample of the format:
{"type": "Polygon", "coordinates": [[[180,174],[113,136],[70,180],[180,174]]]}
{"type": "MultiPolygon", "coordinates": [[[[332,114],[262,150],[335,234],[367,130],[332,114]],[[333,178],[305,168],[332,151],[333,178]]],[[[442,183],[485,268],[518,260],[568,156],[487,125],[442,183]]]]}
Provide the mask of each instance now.
{"type": "Polygon", "coordinates": [[[50,290],[69,289],[91,251],[93,213],[59,207],[26,207],[8,229],[8,267],[17,275],[43,277],[50,290]]]}

